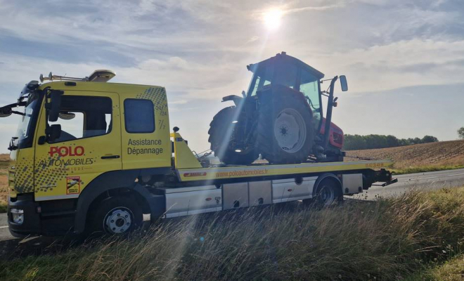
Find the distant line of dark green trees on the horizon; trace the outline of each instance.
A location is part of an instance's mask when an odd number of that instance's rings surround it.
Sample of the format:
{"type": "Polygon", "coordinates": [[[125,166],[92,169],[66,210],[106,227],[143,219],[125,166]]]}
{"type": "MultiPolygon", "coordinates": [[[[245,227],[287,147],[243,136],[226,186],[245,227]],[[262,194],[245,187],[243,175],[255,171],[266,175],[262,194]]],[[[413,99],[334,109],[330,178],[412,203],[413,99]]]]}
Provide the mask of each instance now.
{"type": "Polygon", "coordinates": [[[397,138],[388,135],[344,135],[344,150],[363,150],[373,148],[394,148],[404,145],[417,145],[419,143],[435,143],[438,139],[434,136],[424,136],[423,138],[397,138]]]}

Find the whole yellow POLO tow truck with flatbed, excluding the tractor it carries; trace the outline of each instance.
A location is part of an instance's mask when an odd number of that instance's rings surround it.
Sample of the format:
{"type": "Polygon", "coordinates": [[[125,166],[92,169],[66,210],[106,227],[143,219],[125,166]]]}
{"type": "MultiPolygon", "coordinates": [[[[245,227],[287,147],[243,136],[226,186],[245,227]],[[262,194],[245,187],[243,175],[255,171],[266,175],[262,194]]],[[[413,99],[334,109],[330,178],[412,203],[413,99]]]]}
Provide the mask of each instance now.
{"type": "Polygon", "coordinates": [[[394,182],[388,160],[211,164],[178,128],[170,131],[164,87],[107,83],[114,76],[41,75],[0,107],[0,117],[21,115],[8,148],[16,237],[128,233],[143,214],[156,221],[295,200],[329,204],[394,182]]]}

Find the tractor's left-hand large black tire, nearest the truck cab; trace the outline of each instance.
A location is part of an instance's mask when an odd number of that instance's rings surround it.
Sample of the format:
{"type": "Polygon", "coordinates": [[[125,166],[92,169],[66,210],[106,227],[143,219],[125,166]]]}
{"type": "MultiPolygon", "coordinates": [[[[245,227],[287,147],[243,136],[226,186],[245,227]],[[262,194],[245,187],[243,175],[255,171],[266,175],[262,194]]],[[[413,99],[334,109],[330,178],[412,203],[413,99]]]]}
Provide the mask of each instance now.
{"type": "Polygon", "coordinates": [[[258,158],[258,154],[254,149],[254,144],[245,151],[236,151],[229,143],[233,141],[233,130],[238,119],[237,107],[231,106],[217,112],[212,122],[210,123],[210,138],[211,150],[214,155],[224,164],[232,165],[247,165],[251,164],[258,158]]]}

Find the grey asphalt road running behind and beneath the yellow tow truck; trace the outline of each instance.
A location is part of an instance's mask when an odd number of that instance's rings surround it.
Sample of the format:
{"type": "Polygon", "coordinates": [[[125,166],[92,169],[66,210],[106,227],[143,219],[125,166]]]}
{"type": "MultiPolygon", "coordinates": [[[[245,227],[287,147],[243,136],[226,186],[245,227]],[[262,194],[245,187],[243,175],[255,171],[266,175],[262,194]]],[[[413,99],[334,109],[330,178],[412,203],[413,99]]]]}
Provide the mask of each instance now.
{"type": "MultiPolygon", "coordinates": [[[[375,200],[376,197],[397,196],[408,190],[434,190],[439,188],[452,188],[464,186],[464,169],[433,171],[428,173],[407,174],[395,176],[398,183],[386,187],[373,186],[361,195],[351,198],[362,200],[375,200]]],[[[350,197],[347,197],[350,198],[350,197]]],[[[0,259],[10,256],[13,252],[23,254],[44,253],[54,247],[65,247],[69,244],[66,238],[53,239],[53,237],[30,237],[25,240],[16,239],[10,235],[6,222],[6,214],[0,214],[0,259]]]]}

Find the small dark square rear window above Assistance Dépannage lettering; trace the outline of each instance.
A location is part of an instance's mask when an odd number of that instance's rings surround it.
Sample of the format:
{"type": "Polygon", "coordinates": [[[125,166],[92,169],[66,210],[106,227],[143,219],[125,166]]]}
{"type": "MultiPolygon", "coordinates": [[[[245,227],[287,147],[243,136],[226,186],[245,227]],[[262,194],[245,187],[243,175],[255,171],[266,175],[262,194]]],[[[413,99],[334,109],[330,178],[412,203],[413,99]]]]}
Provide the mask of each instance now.
{"type": "Polygon", "coordinates": [[[127,133],[153,133],[155,109],[151,100],[124,100],[124,122],[127,133]]]}

